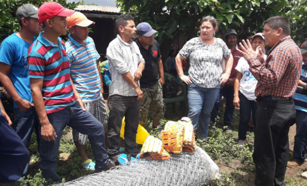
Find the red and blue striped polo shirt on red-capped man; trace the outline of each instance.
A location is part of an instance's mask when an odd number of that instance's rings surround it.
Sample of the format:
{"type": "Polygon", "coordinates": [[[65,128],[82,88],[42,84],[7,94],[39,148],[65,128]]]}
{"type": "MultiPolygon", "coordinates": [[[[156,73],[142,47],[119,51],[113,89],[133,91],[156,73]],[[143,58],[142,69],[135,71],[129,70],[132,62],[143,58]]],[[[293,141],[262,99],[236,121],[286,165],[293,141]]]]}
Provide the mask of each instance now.
{"type": "Polygon", "coordinates": [[[73,105],[75,96],[64,42],[58,38],[57,46],[42,33],[29,48],[27,61],[30,78],[43,79],[42,95],[46,113],[50,114],[73,105]]]}

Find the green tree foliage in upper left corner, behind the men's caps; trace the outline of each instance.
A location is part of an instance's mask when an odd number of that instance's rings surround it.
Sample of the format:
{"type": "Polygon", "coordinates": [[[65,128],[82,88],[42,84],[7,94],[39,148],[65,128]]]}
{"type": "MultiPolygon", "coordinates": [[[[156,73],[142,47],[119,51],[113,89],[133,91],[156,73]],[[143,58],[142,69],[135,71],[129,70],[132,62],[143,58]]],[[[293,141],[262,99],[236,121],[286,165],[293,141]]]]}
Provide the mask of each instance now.
{"type": "MultiPolygon", "coordinates": [[[[0,42],[6,37],[20,29],[19,23],[16,19],[16,11],[18,7],[23,4],[31,3],[37,7],[40,7],[44,2],[41,0],[0,0],[0,42]]],[[[80,3],[66,3],[66,0],[55,0],[63,7],[73,9],[80,3]]]]}

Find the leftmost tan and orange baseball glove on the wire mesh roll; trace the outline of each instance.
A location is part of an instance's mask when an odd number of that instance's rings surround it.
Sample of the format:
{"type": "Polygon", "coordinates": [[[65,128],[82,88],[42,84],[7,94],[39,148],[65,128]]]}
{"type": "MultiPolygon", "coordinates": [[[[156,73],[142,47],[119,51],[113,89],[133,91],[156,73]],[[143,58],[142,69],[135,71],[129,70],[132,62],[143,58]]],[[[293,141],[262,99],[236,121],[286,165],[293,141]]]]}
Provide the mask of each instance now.
{"type": "Polygon", "coordinates": [[[154,136],[148,136],[141,148],[140,158],[170,159],[170,154],[164,150],[162,141],[154,136]]]}

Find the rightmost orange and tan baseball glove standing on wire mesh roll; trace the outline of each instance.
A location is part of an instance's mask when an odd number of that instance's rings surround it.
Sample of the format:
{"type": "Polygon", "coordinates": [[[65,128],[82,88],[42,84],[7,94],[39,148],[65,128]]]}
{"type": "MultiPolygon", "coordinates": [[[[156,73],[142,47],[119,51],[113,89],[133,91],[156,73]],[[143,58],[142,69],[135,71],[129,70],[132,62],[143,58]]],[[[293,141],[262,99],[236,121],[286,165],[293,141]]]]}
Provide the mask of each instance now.
{"type": "Polygon", "coordinates": [[[194,137],[194,127],[192,125],[191,119],[188,117],[183,117],[178,121],[178,124],[184,126],[182,151],[194,152],[196,148],[196,142],[194,137]]]}

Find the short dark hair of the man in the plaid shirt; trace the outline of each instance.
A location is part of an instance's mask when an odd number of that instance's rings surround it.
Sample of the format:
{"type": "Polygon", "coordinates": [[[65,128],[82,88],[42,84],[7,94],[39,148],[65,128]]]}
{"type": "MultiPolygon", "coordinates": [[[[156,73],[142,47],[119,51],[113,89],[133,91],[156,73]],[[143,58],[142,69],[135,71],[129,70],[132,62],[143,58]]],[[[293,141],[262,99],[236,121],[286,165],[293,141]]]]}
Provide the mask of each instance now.
{"type": "Polygon", "coordinates": [[[267,19],[264,22],[264,25],[268,24],[272,29],[277,30],[279,28],[282,29],[282,33],[286,36],[290,35],[290,24],[287,18],[282,16],[274,16],[267,19]]]}

